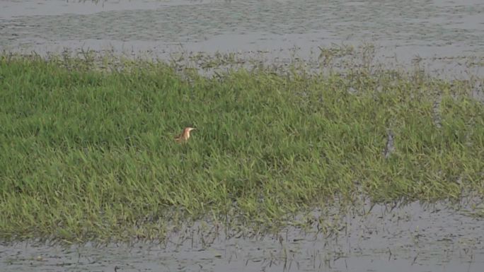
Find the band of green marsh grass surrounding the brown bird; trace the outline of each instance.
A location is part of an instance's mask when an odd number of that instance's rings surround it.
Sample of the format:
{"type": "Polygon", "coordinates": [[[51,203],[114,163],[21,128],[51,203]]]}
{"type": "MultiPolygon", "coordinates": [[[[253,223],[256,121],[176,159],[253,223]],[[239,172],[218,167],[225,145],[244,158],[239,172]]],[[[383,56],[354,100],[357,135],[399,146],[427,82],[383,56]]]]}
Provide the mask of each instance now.
{"type": "Polygon", "coordinates": [[[484,192],[484,105],[467,81],[99,67],[0,57],[2,238],[162,238],[204,215],[277,225],[361,194],[484,192]],[[180,146],[173,136],[185,126],[197,130],[180,146]],[[385,158],[388,130],[395,150],[385,158]]]}

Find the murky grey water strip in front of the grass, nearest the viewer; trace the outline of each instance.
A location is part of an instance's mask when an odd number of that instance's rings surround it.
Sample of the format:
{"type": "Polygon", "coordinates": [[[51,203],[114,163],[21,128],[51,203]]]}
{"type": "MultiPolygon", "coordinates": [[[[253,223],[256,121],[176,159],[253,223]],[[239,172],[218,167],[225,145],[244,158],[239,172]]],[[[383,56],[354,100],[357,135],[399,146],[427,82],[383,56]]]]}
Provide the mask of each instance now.
{"type": "Polygon", "coordinates": [[[484,268],[484,220],[437,204],[369,206],[275,235],[185,227],[161,244],[0,247],[0,271],[476,271],[484,268]]]}

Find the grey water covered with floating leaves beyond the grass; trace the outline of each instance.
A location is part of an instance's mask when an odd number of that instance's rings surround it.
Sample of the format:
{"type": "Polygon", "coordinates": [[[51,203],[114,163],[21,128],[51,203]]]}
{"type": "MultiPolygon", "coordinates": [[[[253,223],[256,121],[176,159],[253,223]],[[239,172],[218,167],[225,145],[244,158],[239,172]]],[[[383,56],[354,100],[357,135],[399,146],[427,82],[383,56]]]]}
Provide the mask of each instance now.
{"type": "Polygon", "coordinates": [[[480,0],[146,0],[0,2],[0,49],[267,52],[303,57],[333,43],[377,46],[381,59],[416,57],[463,73],[484,66],[480,0]],[[478,58],[469,61],[468,58],[478,58]]]}

